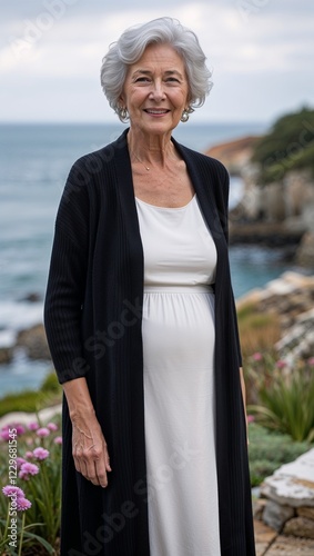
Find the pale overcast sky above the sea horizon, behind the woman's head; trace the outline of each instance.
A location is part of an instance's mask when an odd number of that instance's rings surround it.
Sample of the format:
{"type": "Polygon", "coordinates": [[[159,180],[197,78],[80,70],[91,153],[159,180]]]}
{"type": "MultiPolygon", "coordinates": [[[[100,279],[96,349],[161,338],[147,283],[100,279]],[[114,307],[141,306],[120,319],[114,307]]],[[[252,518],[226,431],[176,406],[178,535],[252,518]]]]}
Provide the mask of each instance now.
{"type": "Polygon", "coordinates": [[[195,122],[314,107],[313,0],[2,0],[0,16],[0,121],[118,121],[101,59],[126,27],[162,16],[197,34],[213,70],[195,122]]]}

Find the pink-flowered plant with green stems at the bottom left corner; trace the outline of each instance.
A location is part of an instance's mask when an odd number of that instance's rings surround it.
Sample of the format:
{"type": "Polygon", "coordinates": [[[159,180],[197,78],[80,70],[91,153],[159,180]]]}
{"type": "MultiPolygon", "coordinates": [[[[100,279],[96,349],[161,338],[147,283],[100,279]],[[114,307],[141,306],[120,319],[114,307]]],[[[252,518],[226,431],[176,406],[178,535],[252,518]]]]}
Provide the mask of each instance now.
{"type": "Polygon", "coordinates": [[[28,427],[12,424],[0,430],[1,554],[31,555],[39,545],[48,554],[55,554],[60,534],[61,444],[58,423],[42,426],[33,421],[28,427]],[[12,430],[14,458],[10,447],[12,430]],[[12,524],[16,537],[11,535],[12,524]]]}

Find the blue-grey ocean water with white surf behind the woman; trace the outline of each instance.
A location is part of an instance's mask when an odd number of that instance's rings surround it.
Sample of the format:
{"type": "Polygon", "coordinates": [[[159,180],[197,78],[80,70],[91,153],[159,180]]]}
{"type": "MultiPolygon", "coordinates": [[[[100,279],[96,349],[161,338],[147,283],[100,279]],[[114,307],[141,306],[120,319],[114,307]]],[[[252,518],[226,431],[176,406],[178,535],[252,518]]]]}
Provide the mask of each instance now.
{"type": "MultiPolygon", "coordinates": [[[[42,322],[53,226],[70,167],[77,158],[114,140],[117,125],[0,125],[0,346],[11,345],[19,330],[42,322]],[[37,302],[27,298],[36,294],[37,302]]],[[[174,137],[195,150],[244,135],[262,133],[263,123],[180,125],[174,137]]],[[[242,182],[231,180],[231,206],[240,200],[242,182]]],[[[281,251],[232,247],[235,296],[265,285],[287,267],[281,251]]],[[[0,366],[0,397],[37,388],[50,364],[29,361],[17,353],[0,366]]]]}

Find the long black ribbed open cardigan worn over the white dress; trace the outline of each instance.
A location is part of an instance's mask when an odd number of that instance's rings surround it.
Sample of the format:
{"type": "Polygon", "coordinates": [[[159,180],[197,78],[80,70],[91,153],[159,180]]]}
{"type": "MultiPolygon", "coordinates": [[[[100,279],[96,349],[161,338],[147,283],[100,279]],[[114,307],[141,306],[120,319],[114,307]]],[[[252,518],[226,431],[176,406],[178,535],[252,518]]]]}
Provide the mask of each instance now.
{"type": "MultiPolygon", "coordinates": [[[[107,488],[75,471],[71,421],[63,399],[62,556],[150,555],[141,334],[143,250],[126,133],[128,129],[117,141],[73,165],[55,222],[44,304],[47,337],[60,383],[87,377],[112,466],[107,488]]],[[[186,163],[217,250],[221,554],[254,556],[241,355],[227,255],[229,176],[217,160],[173,142],[186,163]]]]}

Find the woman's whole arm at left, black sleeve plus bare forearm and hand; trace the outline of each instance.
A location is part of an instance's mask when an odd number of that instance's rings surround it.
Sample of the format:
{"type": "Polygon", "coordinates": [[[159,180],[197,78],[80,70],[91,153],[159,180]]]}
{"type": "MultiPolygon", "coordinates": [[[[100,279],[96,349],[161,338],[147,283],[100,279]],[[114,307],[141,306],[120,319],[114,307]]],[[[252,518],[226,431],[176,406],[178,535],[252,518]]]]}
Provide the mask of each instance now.
{"type": "Polygon", "coordinates": [[[44,302],[44,325],[52,360],[69,406],[75,468],[105,487],[111,470],[85,375],[81,337],[82,305],[89,264],[90,176],[73,165],[59,206],[44,302]]]}

